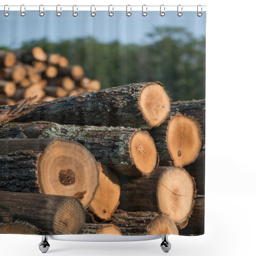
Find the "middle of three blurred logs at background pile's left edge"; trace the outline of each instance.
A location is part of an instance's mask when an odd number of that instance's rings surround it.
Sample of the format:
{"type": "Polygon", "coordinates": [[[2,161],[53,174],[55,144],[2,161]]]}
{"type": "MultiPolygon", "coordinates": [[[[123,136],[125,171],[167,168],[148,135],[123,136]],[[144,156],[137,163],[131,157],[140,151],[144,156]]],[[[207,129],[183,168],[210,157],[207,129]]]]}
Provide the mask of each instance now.
{"type": "Polygon", "coordinates": [[[17,64],[11,68],[2,68],[0,70],[1,78],[5,80],[12,80],[14,83],[19,83],[27,75],[26,68],[23,65],[17,64]]]}

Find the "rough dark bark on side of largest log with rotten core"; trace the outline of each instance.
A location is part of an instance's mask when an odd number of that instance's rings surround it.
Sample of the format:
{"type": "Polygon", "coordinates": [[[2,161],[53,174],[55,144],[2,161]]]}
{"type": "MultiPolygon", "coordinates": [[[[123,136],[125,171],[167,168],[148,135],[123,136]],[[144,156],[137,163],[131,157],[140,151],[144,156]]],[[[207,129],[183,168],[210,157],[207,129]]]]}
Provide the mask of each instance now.
{"type": "Polygon", "coordinates": [[[41,152],[17,151],[0,156],[0,187],[4,191],[39,193],[37,163],[41,152]]]}

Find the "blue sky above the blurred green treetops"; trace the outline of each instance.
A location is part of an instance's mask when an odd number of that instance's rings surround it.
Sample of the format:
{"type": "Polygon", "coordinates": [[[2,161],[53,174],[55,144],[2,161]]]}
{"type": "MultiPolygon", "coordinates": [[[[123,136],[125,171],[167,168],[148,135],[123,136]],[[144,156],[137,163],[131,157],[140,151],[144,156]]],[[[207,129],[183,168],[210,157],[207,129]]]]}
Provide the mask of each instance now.
{"type": "Polygon", "coordinates": [[[0,46],[12,49],[20,48],[23,42],[47,38],[51,42],[65,39],[93,36],[100,42],[108,43],[118,40],[123,44],[149,44],[147,34],[155,27],[184,27],[196,37],[205,35],[206,12],[198,17],[196,12],[183,12],[181,17],[177,12],[166,12],[161,17],[159,12],[148,12],[146,17],[141,12],[134,11],[130,17],[126,12],[116,11],[112,17],[106,11],[96,12],[95,17],[90,12],[78,12],[77,17],[71,11],[62,11],[60,17],[56,11],[47,11],[43,17],[38,11],[27,11],[24,17],[19,11],[10,11],[5,17],[0,12],[0,46]]]}

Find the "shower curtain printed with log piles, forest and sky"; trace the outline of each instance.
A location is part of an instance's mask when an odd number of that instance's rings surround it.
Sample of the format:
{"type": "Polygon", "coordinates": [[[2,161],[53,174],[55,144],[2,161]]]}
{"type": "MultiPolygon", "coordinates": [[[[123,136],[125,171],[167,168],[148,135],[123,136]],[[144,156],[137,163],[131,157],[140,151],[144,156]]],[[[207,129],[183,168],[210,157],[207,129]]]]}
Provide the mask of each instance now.
{"type": "Polygon", "coordinates": [[[0,233],[204,234],[206,12],[129,10],[1,11],[0,233]]]}

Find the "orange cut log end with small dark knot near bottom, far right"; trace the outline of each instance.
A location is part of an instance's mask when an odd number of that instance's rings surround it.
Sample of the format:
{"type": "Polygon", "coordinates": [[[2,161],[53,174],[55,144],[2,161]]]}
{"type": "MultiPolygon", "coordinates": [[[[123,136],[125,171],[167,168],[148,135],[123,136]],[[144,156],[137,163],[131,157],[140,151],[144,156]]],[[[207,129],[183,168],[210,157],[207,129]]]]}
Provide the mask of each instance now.
{"type": "Polygon", "coordinates": [[[196,119],[183,115],[172,116],[166,141],[174,165],[183,167],[193,163],[202,147],[201,130],[196,119]]]}

